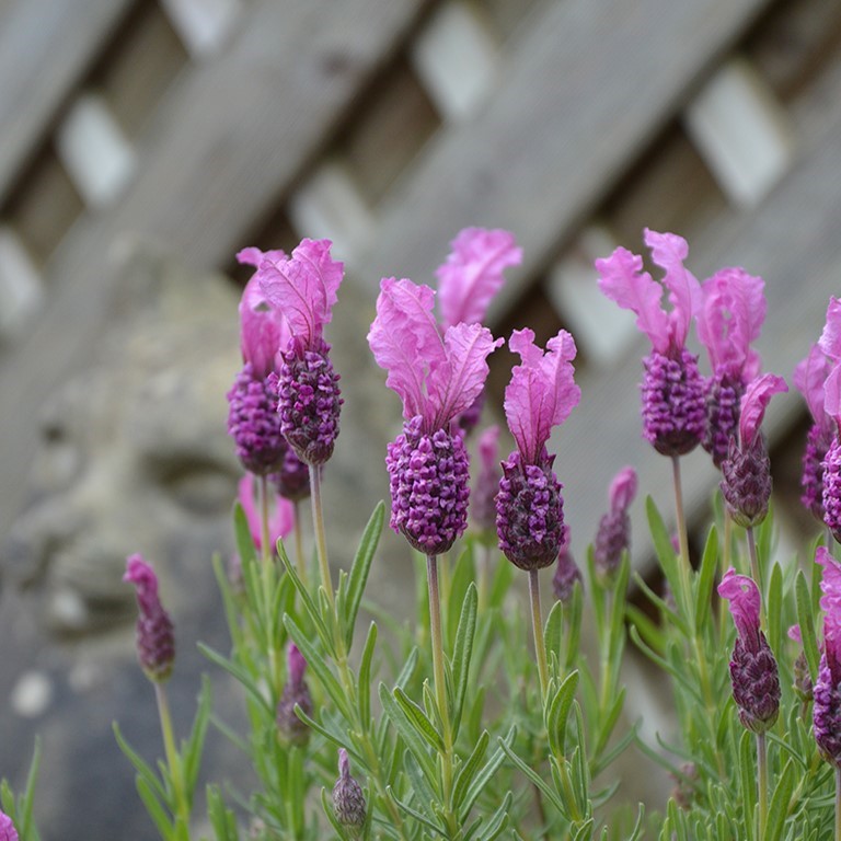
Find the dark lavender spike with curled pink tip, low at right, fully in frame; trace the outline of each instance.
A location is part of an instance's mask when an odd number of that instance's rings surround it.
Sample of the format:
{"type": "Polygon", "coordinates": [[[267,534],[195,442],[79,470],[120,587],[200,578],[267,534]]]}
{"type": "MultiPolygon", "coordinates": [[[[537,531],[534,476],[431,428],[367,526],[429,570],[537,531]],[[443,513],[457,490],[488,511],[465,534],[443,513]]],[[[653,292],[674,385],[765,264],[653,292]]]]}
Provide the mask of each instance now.
{"type": "Polygon", "coordinates": [[[780,712],[776,660],[759,627],[759,589],[752,578],[730,567],[718,585],[718,595],[730,602],[738,636],[730,659],[733,700],[739,721],[761,734],[773,726],[780,712]]]}

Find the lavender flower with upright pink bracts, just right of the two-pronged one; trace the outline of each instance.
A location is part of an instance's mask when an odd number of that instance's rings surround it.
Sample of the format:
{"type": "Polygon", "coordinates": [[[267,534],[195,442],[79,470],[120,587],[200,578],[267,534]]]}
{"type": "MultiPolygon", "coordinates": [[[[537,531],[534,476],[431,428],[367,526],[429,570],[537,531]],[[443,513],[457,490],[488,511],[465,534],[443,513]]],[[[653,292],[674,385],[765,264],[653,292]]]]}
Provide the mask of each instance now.
{"type": "Polygon", "coordinates": [[[742,268],[723,268],[701,289],[698,337],[713,369],[706,384],[707,425],[702,443],[721,468],[739,423],[745,387],[759,373],[759,354],[751,343],[759,338],[765,319],[764,281],[742,268]]]}

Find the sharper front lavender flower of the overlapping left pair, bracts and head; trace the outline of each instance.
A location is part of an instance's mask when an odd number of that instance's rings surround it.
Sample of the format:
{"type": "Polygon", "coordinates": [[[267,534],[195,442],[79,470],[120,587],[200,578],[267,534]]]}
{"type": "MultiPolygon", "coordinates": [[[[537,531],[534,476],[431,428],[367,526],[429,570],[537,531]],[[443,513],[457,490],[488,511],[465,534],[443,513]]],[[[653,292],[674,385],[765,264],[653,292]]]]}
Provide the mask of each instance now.
{"type": "Polygon", "coordinates": [[[298,458],[323,464],[338,436],[338,375],[323,330],[333,316],[344,266],[330,240],[302,240],[290,258],[264,255],[257,275],[266,300],[284,313],[291,339],[283,352],[277,391],[281,430],[298,458]]]}

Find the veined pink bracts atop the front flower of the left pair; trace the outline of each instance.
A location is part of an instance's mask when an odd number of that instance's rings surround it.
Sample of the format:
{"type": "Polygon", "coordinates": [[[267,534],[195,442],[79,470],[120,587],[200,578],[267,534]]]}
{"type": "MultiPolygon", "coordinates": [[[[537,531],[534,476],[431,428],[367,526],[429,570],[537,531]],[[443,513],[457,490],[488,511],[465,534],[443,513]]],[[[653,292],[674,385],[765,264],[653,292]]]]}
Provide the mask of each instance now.
{"type": "Polygon", "coordinates": [[[290,260],[266,255],[260,264],[260,283],[268,302],[289,322],[289,330],[304,347],[320,338],[333,316],[344,264],[330,256],[330,240],[301,240],[290,260]]]}

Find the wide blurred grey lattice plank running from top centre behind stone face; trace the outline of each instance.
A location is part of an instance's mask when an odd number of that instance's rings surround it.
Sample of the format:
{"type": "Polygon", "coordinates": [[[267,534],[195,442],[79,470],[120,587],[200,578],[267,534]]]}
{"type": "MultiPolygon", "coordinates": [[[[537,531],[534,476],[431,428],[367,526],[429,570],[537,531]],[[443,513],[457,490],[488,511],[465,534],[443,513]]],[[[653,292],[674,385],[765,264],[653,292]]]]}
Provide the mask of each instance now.
{"type": "MultiPolygon", "coordinates": [[[[138,138],[138,175],[107,214],[80,219],[48,267],[50,306],[0,368],[0,428],[22,476],[45,398],[90,358],[122,234],[147,235],[199,266],[227,264],[243,237],[327,142],[425,0],[254,2],[231,44],[192,67],[138,138]]],[[[5,502],[5,500],[4,500],[5,502]]],[[[20,499],[0,506],[0,532],[20,499]]]]}

